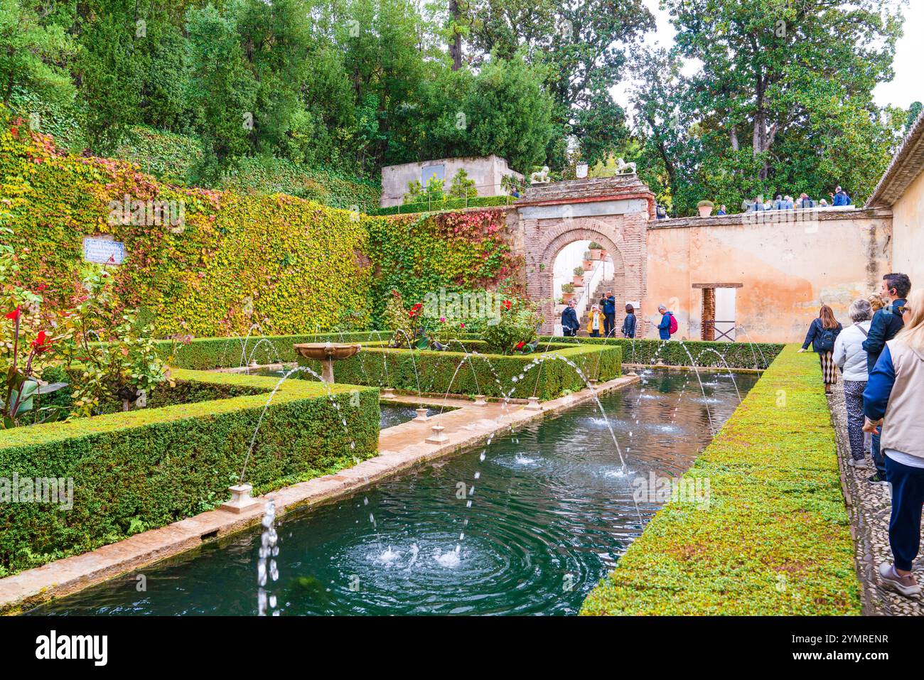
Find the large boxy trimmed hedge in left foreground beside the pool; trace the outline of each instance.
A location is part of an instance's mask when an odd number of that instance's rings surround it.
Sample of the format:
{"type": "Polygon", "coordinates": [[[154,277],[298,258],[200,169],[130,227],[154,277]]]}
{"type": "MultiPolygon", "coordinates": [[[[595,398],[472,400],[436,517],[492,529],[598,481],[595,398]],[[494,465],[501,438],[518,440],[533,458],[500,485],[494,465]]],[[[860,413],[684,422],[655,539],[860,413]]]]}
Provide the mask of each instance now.
{"type": "MultiPolygon", "coordinates": [[[[176,370],[178,390],[256,394],[0,431],[0,478],[71,478],[74,505],[0,503],[0,576],[84,553],[224,503],[275,378],[176,370]]],[[[378,391],[286,381],[265,410],[245,480],[257,493],[375,455],[378,391]],[[337,407],[334,407],[334,403],[337,407]],[[346,419],[346,427],[343,420],[346,419]]]]}

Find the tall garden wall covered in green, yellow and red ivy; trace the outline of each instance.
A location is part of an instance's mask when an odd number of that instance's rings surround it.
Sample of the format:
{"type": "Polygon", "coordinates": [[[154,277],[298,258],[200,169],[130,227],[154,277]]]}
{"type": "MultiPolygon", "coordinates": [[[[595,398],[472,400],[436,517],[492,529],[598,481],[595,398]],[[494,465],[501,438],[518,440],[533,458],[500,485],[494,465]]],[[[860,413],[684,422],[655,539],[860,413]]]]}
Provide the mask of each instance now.
{"type": "Polygon", "coordinates": [[[0,122],[0,225],[13,230],[3,240],[21,258],[19,283],[51,307],[78,292],[86,236],[125,244],[128,260],[112,267],[119,296],[161,335],[246,334],[254,322],[265,334],[364,330],[392,289],[411,300],[493,288],[517,270],[503,211],[371,217],[286,194],[175,187],[0,122]]]}

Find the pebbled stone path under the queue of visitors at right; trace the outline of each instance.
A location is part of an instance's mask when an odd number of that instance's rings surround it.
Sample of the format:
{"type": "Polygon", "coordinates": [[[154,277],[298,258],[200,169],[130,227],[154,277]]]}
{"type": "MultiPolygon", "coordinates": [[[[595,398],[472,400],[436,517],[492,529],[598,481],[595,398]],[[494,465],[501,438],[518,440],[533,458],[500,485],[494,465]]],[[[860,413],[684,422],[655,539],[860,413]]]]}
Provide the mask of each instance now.
{"type": "MultiPolygon", "coordinates": [[[[889,550],[889,514],[891,496],[888,487],[870,484],[867,478],[875,472],[867,454],[869,468],[851,468],[847,465],[850,446],[847,443],[847,418],[844,407],[843,383],[834,387],[828,397],[834,430],[837,434],[837,453],[841,467],[841,482],[851,533],[854,536],[857,575],[863,587],[863,613],[881,615],[921,615],[924,601],[909,599],[893,590],[883,589],[879,579],[879,564],[892,562],[889,550]]],[[[921,541],[924,545],[924,540],[921,541]]],[[[915,576],[924,584],[924,554],[915,561],[915,576]]]]}

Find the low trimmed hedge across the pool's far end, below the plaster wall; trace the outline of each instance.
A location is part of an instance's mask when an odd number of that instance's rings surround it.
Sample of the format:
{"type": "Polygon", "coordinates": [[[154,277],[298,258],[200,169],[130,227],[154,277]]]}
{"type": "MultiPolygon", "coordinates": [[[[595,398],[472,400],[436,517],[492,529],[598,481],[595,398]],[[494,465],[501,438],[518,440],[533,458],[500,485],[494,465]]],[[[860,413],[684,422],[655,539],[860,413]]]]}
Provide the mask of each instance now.
{"type": "Polygon", "coordinates": [[[724,367],[715,355],[715,352],[719,352],[728,366],[733,369],[765,369],[784,347],[778,343],[717,343],[704,340],[685,340],[681,345],[675,340],[665,344],[663,340],[636,339],[633,341],[621,337],[562,338],[546,335],[542,337],[542,340],[543,342],[566,340],[569,343],[576,342],[581,345],[616,345],[623,348],[623,361],[627,364],[647,364],[660,358],[668,366],[690,365],[690,358],[684,349],[686,346],[698,366],[724,367]]]}

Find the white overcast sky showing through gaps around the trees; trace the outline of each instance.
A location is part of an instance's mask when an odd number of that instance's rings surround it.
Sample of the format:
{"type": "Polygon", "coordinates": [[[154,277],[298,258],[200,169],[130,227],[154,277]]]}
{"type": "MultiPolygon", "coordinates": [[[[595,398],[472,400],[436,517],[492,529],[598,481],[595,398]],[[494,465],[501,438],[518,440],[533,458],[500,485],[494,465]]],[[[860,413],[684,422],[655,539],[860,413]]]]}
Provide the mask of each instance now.
{"type": "MultiPolygon", "coordinates": [[[[657,28],[646,35],[645,42],[649,45],[670,46],[675,36],[670,15],[659,9],[658,0],[642,0],[642,2],[648,6],[657,24],[657,28]]],[[[895,45],[893,62],[895,77],[890,82],[880,83],[873,90],[873,99],[880,106],[893,104],[907,108],[912,102],[924,101],[924,88],[920,85],[919,70],[924,62],[924,41],[920,37],[924,34],[924,2],[911,0],[908,6],[903,8],[903,14],[905,15],[905,35],[895,45]]],[[[684,68],[684,73],[690,75],[695,73],[697,68],[697,63],[688,63],[684,68]]],[[[616,102],[624,106],[628,100],[626,91],[625,82],[616,86],[612,91],[616,102]]]]}

